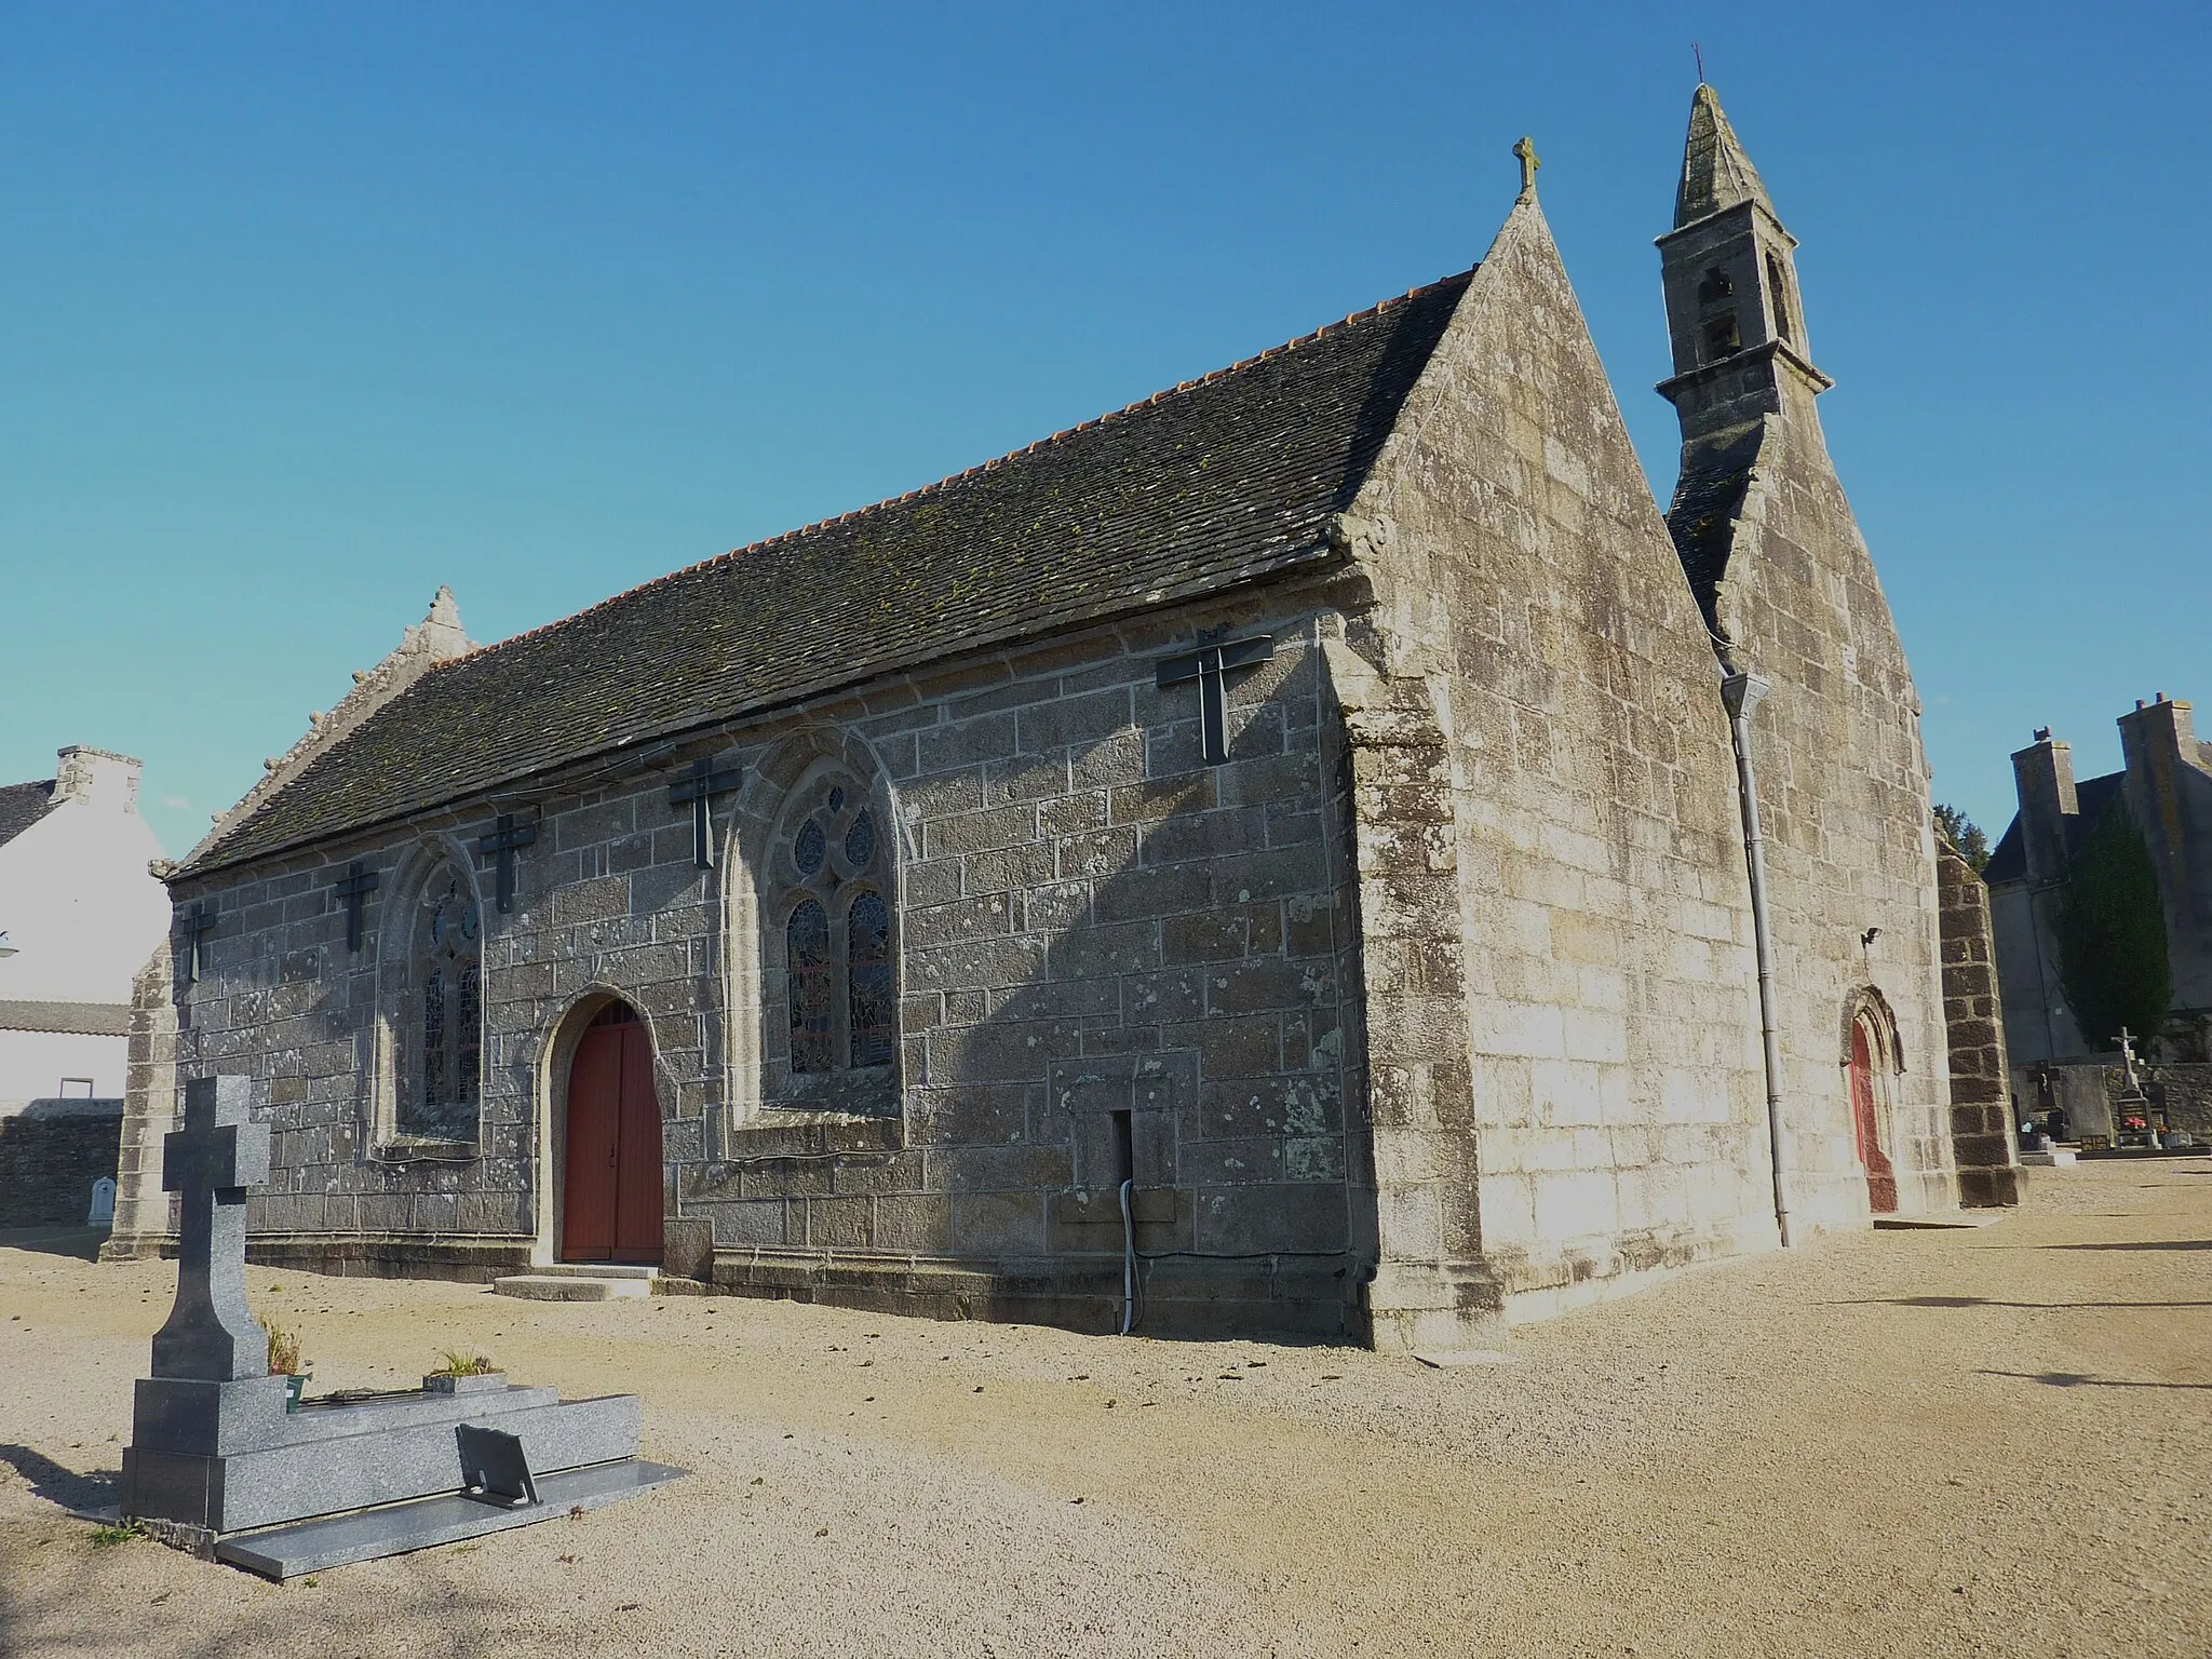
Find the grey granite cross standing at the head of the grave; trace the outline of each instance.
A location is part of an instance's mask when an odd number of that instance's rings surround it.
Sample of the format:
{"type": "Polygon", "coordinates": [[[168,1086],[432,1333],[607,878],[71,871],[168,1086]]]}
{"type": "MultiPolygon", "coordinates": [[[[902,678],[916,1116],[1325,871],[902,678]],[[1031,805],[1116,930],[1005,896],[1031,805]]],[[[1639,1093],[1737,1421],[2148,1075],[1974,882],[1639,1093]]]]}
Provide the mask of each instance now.
{"type": "Polygon", "coordinates": [[[234,1383],[268,1376],[270,1338],[246,1310],[246,1188],[270,1179],[270,1126],[246,1077],[184,1086],[184,1128],[161,1141],[177,1206],[177,1305],[153,1336],[153,1374],[234,1383]]]}

